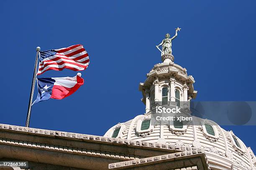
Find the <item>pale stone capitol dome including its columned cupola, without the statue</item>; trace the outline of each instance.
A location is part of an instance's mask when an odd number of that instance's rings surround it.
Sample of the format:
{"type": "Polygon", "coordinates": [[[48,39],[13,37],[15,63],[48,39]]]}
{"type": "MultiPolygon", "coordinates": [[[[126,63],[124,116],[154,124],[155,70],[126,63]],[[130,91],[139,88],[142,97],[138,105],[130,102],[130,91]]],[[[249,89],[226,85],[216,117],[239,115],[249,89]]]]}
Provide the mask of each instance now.
{"type": "Polygon", "coordinates": [[[166,143],[203,148],[211,170],[256,170],[256,157],[233,131],[226,131],[217,123],[195,117],[189,102],[197,96],[194,78],[174,63],[172,54],[162,55],[162,63],[154,65],[145,82],[139,84],[145,114],[110,128],[105,137],[148,143],[166,143]],[[192,117],[188,123],[154,121],[156,106],[181,109],[181,115],[192,117]]]}

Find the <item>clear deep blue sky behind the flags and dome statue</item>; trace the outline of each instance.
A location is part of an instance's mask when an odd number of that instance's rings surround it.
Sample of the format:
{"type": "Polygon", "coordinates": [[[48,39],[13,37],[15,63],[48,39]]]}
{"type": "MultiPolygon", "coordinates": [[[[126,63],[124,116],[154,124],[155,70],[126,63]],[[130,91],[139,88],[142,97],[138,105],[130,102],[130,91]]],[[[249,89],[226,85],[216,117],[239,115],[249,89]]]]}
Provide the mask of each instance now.
{"type": "MultiPolygon", "coordinates": [[[[82,44],[90,65],[73,95],[32,108],[31,127],[104,135],[143,114],[138,84],[161,60],[155,45],[177,27],[173,55],[195,78],[198,101],[255,101],[255,9],[253,0],[2,0],[0,123],[25,125],[37,46],[82,44]]],[[[41,77],[76,74],[48,71],[41,77]]],[[[223,128],[256,151],[255,126],[223,128]]]]}

